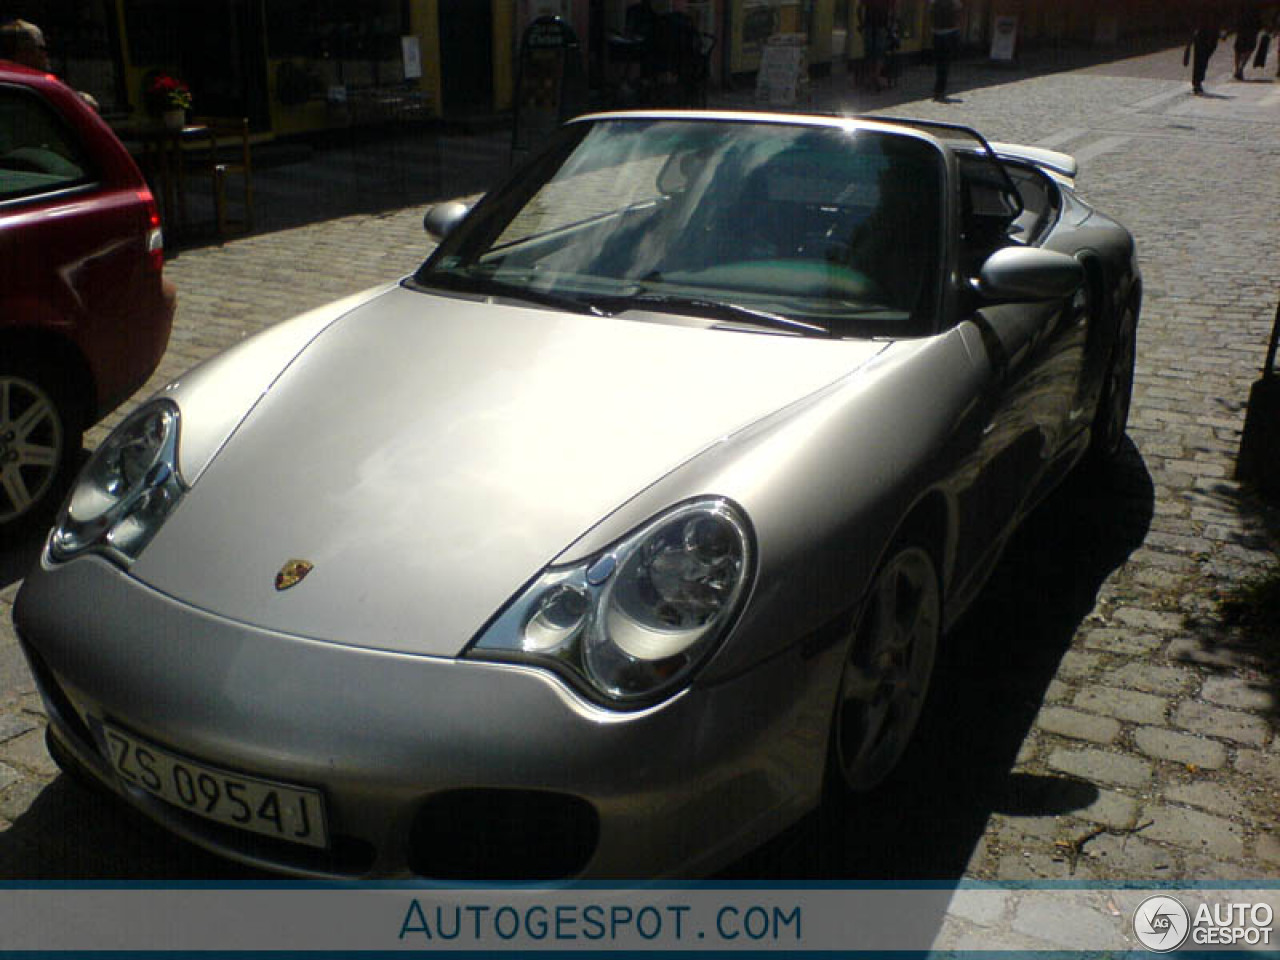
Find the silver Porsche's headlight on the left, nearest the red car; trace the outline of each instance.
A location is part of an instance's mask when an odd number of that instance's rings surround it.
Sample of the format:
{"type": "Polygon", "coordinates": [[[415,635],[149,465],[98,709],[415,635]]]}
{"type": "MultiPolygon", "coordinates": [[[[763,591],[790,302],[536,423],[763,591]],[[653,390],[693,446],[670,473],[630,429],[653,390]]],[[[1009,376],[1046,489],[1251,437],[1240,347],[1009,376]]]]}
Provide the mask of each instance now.
{"type": "Polygon", "coordinates": [[[67,561],[92,550],[128,566],[184,492],[178,407],[154,401],[131,413],[90,457],[58,516],[49,553],[67,561]]]}

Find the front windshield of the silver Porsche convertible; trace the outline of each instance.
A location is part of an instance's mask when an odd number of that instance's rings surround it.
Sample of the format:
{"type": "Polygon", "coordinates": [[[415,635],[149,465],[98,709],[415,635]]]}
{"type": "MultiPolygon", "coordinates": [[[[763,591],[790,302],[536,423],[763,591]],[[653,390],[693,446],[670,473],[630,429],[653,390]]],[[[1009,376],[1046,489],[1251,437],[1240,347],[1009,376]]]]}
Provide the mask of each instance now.
{"type": "Polygon", "coordinates": [[[868,129],[571,124],[416,280],[558,308],[823,337],[931,329],[943,160],[868,129]]]}

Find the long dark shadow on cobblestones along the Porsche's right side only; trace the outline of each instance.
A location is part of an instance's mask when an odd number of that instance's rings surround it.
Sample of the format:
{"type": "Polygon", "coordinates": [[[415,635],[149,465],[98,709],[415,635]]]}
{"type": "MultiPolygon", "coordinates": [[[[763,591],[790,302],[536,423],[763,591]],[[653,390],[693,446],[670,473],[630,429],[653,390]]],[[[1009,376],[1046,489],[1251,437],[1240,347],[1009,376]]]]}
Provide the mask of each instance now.
{"type": "Polygon", "coordinates": [[[1153,511],[1155,486],[1132,444],[1106,476],[1070,477],[1024,521],[947,635],[915,746],[892,782],[827,801],[722,878],[959,879],[993,813],[1052,817],[1093,803],[1091,783],[1012,768],[1102,582],[1142,544],[1153,511]]]}

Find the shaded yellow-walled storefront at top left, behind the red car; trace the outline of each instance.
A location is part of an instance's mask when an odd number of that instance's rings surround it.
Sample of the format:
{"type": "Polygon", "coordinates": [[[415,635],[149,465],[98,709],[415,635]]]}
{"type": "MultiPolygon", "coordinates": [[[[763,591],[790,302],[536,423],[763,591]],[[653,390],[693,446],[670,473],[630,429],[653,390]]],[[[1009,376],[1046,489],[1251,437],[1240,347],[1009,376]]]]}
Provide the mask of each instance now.
{"type": "MultiPolygon", "coordinates": [[[[321,131],[387,115],[494,109],[515,0],[17,0],[52,67],[110,119],[145,119],[155,73],[196,114],[257,132],[321,131]],[[442,60],[442,50],[444,58],[442,60]]],[[[509,63],[506,64],[509,74],[509,63]]],[[[509,82],[508,82],[509,87],[509,82]]],[[[509,90],[507,91],[509,96],[509,90]]]]}

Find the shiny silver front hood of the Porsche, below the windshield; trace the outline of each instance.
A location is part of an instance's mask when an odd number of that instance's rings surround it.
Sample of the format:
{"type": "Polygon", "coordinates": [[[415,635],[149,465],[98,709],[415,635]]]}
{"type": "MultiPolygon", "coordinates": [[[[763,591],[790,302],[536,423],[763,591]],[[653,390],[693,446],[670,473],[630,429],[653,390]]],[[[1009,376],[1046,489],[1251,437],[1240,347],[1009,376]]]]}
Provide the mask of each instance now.
{"type": "Polygon", "coordinates": [[[452,657],[611,511],[882,347],[396,288],[301,348],[132,573],[269,630],[452,657]],[[291,559],[314,568],[276,590],[291,559]]]}

